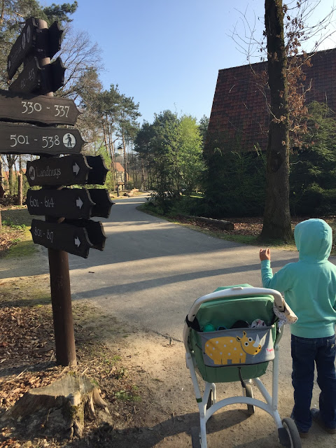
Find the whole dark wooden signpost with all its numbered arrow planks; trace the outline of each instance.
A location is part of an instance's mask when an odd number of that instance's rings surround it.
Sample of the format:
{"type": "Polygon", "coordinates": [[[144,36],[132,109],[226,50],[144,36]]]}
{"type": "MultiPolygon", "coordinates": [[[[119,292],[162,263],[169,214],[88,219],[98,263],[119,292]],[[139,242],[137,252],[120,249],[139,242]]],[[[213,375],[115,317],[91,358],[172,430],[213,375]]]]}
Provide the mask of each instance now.
{"type": "Polygon", "coordinates": [[[78,117],[72,100],[53,97],[64,83],[61,59],[50,62],[61,36],[57,22],[48,28],[45,21],[29,18],[10,50],[8,77],[24,66],[10,91],[0,90],[0,153],[41,156],[27,163],[29,186],[44,187],[27,193],[29,213],[45,215],[45,221],[33,219],[31,235],[48,248],[57,363],[76,365],[68,253],[87,258],[90,248],[104,249],[102,223],[90,218],[108,218],[113,202],[104,189],[63,188],[104,184],[108,169],[101,156],[80,154],[84,141],[78,130],[50,127],[73,126],[78,117]]]}

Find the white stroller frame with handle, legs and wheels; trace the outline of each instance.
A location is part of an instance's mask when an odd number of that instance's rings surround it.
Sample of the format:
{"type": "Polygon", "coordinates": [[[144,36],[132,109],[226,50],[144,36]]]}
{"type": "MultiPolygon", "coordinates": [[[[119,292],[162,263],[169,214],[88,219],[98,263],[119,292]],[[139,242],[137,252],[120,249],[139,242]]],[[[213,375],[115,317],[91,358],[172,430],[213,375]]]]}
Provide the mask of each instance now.
{"type": "MultiPolygon", "coordinates": [[[[274,297],[274,302],[279,311],[283,311],[283,298],[279,291],[267,288],[253,288],[253,287],[242,287],[237,286],[233,288],[223,289],[215,291],[195,300],[193,306],[188,313],[188,321],[191,323],[200,309],[200,306],[204,302],[209,300],[220,299],[224,297],[235,297],[239,295],[272,295],[274,297]]],[[[196,376],[197,363],[195,356],[190,352],[188,346],[188,337],[190,334],[190,327],[185,323],[183,328],[183,342],[186,347],[186,364],[190,370],[190,376],[193,381],[193,386],[196,395],[196,401],[198,409],[200,411],[200,429],[198,427],[192,428],[192,442],[193,448],[207,448],[207,430],[206,425],[209,418],[222,407],[228,405],[234,405],[237,403],[246,404],[248,406],[248,411],[250,413],[254,412],[254,407],[257,406],[268,412],[274,419],[276,428],[278,429],[279,442],[285,447],[300,448],[301,440],[298,433],[297,427],[294,421],[290,418],[285,418],[281,421],[278,406],[278,380],[279,380],[279,341],[283,334],[283,328],[279,329],[278,336],[276,337],[276,342],[274,344],[274,360],[272,369],[272,396],[269,395],[267,389],[265,388],[262,381],[259,378],[253,378],[246,380],[246,396],[235,396],[231,398],[224,398],[223,400],[217,401],[216,399],[216,384],[204,381],[205,389],[204,394],[200,391],[200,386],[196,376]],[[260,393],[265,398],[265,402],[253,398],[251,384],[255,384],[258,387],[260,393]],[[211,397],[212,395],[212,397],[211,397]],[[249,395],[249,396],[248,396],[249,395]]],[[[270,362],[270,361],[269,361],[270,362]]],[[[243,387],[244,391],[244,387],[243,387]]]]}

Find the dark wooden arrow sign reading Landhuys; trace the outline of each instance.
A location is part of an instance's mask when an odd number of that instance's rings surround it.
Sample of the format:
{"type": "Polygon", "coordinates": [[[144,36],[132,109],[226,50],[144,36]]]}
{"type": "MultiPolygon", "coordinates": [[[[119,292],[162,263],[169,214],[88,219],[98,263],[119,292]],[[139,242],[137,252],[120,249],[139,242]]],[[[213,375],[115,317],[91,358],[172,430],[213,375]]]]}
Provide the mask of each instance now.
{"type": "Polygon", "coordinates": [[[31,187],[83,185],[90,171],[85,155],[78,154],[27,162],[26,176],[31,187]]]}

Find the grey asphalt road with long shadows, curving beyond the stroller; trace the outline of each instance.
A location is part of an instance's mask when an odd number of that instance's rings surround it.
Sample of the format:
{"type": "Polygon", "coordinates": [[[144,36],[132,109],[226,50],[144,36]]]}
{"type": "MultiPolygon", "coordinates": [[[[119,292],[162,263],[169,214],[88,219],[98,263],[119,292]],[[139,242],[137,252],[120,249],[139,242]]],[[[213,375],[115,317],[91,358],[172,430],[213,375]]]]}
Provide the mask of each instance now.
{"type": "MultiPolygon", "coordinates": [[[[209,237],[136,207],[145,197],[117,200],[104,221],[106,246],[85,260],[70,255],[73,300],[97,302],[136,328],[182,340],[183,320],[201,295],[218,286],[261,286],[255,246],[209,237]]],[[[274,251],[272,267],[296,253],[274,251]]]]}

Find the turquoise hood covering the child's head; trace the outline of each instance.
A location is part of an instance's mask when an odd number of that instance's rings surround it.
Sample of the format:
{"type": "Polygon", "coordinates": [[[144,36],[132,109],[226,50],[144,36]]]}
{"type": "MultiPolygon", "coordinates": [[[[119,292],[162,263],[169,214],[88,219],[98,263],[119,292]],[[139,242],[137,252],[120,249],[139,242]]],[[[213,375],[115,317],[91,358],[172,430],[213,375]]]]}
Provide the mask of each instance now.
{"type": "Polygon", "coordinates": [[[294,239],[300,260],[328,260],[332,246],[332,229],[323,219],[307,219],[297,224],[294,239]]]}

